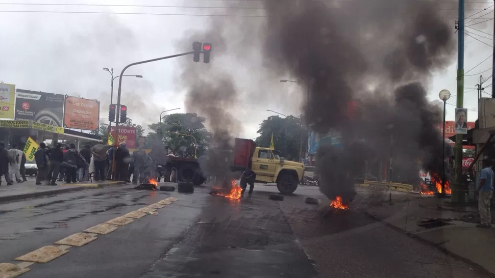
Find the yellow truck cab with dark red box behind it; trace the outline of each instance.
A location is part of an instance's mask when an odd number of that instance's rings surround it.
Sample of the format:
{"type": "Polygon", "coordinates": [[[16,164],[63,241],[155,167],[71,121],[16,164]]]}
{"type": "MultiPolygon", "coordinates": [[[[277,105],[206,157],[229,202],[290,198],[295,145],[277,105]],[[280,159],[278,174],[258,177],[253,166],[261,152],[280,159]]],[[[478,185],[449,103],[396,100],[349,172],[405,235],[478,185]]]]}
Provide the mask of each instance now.
{"type": "Polygon", "coordinates": [[[256,147],[250,139],[236,138],[232,171],[249,168],[256,182],[277,183],[281,193],[290,194],[304,177],[304,164],[280,158],[273,149],[256,147]]]}

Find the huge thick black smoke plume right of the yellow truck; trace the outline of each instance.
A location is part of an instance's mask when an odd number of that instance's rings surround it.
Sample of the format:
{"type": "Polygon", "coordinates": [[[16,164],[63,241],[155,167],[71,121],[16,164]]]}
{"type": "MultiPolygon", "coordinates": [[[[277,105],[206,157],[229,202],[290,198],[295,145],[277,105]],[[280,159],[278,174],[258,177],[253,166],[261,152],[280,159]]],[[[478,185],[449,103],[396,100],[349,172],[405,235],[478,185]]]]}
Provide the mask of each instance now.
{"type": "Polygon", "coordinates": [[[394,157],[402,182],[420,168],[441,173],[440,110],[427,100],[431,74],[452,62],[454,30],[435,1],[266,1],[264,53],[273,70],[305,82],[307,124],[342,135],[320,146],[320,190],[353,199],[366,161],[394,157]],[[282,69],[282,70],[281,70],[282,69]],[[357,111],[350,103],[357,101],[357,111]]]}

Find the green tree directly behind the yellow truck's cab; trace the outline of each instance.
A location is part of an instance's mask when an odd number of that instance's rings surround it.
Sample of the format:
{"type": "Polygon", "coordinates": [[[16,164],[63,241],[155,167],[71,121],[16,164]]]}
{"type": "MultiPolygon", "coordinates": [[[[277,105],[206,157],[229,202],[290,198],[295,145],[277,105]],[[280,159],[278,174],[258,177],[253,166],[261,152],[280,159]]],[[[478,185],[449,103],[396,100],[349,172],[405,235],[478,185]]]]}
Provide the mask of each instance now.
{"type": "Polygon", "coordinates": [[[271,134],[273,134],[275,149],[289,160],[299,160],[301,147],[303,153],[306,151],[305,142],[307,142],[308,134],[301,116],[289,115],[287,118],[270,116],[263,120],[258,133],[260,136],[255,141],[258,146],[269,147],[271,134]]]}

